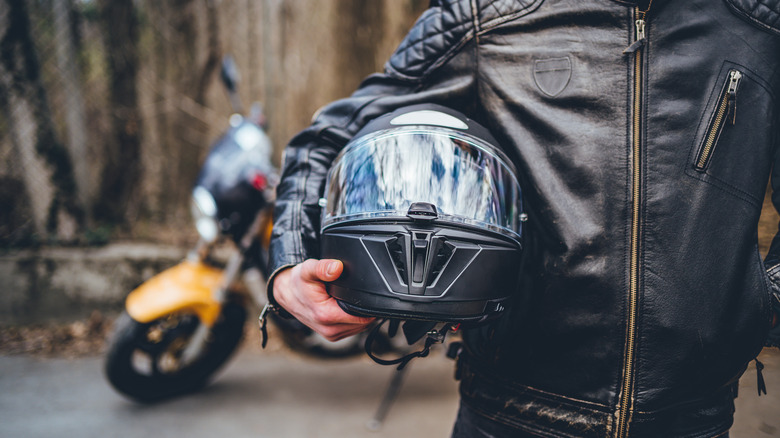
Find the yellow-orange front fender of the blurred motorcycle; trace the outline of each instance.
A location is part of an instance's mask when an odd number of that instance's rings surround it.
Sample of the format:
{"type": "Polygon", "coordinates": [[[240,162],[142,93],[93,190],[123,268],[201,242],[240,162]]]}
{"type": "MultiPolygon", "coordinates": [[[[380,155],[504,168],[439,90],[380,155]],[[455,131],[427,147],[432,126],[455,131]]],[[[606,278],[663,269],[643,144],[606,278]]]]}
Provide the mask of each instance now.
{"type": "Polygon", "coordinates": [[[125,308],[134,320],[141,323],[189,311],[211,327],[222,310],[222,304],[214,299],[214,291],[221,285],[221,269],[201,262],[184,261],[130,292],[125,308]]]}

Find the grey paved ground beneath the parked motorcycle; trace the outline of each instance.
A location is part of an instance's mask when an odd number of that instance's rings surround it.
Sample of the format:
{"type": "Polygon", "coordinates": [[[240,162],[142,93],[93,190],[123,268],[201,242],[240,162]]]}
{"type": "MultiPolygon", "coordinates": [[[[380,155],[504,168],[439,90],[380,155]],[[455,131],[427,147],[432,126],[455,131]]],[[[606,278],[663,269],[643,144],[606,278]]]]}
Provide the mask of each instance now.
{"type": "MultiPolygon", "coordinates": [[[[751,365],[733,438],[780,437],[780,353],[765,351],[768,396],[751,365]]],[[[99,357],[0,356],[0,437],[447,437],[457,409],[441,349],[411,365],[384,428],[366,422],[391,369],[364,357],[317,361],[244,348],[204,391],[154,406],[109,388],[99,357]]]]}

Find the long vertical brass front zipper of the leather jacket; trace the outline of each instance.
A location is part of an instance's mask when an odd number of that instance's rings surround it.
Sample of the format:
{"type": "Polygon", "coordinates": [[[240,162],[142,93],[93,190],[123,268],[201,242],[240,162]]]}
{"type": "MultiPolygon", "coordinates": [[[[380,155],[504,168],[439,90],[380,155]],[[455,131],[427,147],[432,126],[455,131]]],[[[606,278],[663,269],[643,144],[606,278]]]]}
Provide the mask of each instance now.
{"type": "MultiPolygon", "coordinates": [[[[649,8],[648,8],[649,9],[649,8]]],[[[647,11],[635,9],[637,17],[636,41],[628,51],[634,53],[634,90],[632,123],[632,176],[631,176],[631,247],[629,266],[628,309],[626,315],[626,346],[623,353],[623,380],[620,387],[620,399],[617,408],[617,427],[615,437],[628,436],[634,400],[634,355],[636,353],[636,321],[639,309],[639,255],[641,231],[641,146],[642,146],[642,68],[643,52],[646,41],[645,17],[647,11]]]]}

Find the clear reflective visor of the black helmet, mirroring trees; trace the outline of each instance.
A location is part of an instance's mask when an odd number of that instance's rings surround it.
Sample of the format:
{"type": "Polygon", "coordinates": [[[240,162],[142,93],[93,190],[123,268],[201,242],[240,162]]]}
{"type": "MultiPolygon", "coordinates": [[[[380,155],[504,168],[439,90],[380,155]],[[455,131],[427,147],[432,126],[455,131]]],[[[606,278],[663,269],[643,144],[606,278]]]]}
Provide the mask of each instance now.
{"type": "Polygon", "coordinates": [[[520,186],[495,149],[448,129],[381,131],[347,145],[325,189],[323,227],[369,217],[405,217],[414,202],[440,219],[520,235],[520,186]]]}

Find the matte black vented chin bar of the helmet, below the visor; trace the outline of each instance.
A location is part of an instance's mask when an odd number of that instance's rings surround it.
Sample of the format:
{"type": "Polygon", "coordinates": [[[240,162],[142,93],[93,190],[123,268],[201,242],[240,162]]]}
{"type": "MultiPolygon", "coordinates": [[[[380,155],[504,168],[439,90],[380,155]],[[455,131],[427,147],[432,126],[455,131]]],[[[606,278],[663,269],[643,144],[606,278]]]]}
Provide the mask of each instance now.
{"type": "Polygon", "coordinates": [[[498,233],[399,218],[334,225],[321,241],[344,264],[328,292],[355,315],[478,323],[519,287],[519,244],[498,233]]]}

